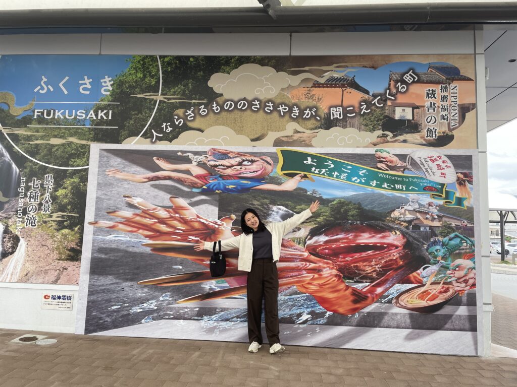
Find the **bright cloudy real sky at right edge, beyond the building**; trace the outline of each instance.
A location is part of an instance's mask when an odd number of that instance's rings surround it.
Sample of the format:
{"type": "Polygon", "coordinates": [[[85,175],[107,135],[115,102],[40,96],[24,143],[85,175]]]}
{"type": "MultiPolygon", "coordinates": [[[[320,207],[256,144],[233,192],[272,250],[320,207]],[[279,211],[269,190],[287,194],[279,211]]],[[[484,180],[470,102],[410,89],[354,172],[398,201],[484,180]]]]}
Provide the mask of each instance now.
{"type": "Polygon", "coordinates": [[[488,184],[490,208],[517,208],[510,197],[517,195],[517,120],[490,131],[488,141],[488,184]]]}

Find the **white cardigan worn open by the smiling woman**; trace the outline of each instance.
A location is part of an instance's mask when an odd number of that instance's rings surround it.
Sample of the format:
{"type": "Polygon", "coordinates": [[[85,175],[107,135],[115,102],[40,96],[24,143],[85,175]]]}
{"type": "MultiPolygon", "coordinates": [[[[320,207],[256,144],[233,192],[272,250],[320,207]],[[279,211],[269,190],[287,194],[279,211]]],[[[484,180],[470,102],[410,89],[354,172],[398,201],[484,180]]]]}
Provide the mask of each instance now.
{"type": "MultiPolygon", "coordinates": [[[[285,234],[294,229],[298,224],[308,219],[312,215],[309,208],[305,211],[284,220],[283,222],[272,222],[266,225],[266,229],[271,233],[271,247],[273,251],[273,262],[280,259],[280,246],[285,234]]],[[[205,242],[205,250],[212,250],[214,242],[205,242]]],[[[232,238],[221,240],[221,250],[239,249],[238,269],[251,271],[253,261],[253,233],[246,235],[242,233],[232,238]]]]}

